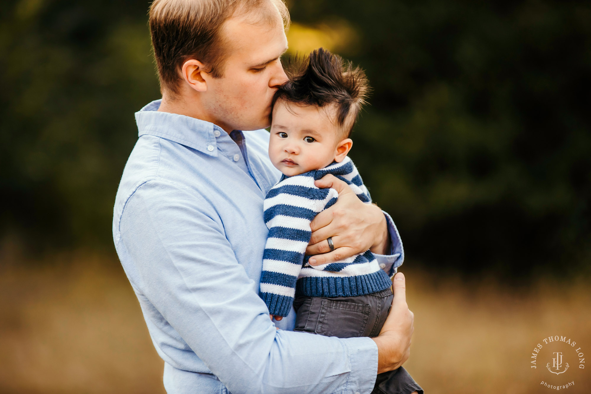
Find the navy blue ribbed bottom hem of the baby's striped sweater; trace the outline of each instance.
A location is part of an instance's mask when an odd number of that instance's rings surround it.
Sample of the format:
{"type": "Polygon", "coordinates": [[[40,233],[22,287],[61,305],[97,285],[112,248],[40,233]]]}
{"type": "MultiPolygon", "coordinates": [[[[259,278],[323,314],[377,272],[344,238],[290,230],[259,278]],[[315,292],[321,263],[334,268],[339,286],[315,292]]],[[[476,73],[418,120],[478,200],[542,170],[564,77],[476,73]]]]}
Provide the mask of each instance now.
{"type": "Polygon", "coordinates": [[[350,297],[371,294],[392,286],[382,270],[358,276],[308,276],[297,280],[296,294],[308,297],[350,297]]]}

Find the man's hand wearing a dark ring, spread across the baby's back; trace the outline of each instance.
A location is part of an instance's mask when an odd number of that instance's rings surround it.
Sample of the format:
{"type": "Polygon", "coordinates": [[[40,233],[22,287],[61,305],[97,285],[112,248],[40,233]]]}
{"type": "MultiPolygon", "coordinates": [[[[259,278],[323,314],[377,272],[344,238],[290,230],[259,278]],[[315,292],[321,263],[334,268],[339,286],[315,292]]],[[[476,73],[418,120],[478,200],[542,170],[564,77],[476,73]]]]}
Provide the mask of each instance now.
{"type": "Polygon", "coordinates": [[[310,265],[333,263],[368,249],[378,254],[388,250],[387,222],[377,205],[362,202],[346,182],[334,175],[326,175],[314,185],[321,189],[335,189],[339,199],[310,223],[312,236],[306,248],[306,254],[313,256],[310,265]],[[329,237],[332,237],[334,251],[330,251],[329,237]]]}

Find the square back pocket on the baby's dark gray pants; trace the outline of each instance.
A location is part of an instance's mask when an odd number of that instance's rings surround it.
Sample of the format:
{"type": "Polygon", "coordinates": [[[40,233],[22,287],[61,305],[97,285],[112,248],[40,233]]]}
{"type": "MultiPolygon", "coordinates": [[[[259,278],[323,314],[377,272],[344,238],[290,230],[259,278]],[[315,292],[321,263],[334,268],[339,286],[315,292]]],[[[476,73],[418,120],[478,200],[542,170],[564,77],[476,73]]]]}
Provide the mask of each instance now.
{"type": "Polygon", "coordinates": [[[361,337],[368,325],[369,314],[369,305],[324,298],[315,332],[327,337],[361,337]]]}

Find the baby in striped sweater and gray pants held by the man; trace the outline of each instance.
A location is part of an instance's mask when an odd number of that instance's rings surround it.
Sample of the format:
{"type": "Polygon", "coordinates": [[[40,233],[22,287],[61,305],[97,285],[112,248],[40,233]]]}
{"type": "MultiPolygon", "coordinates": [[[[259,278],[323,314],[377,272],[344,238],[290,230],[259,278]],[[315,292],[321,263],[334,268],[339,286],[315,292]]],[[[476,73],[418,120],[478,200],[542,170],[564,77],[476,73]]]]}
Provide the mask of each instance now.
{"type": "MultiPolygon", "coordinates": [[[[339,338],[375,337],[392,303],[391,280],[371,251],[335,263],[310,266],[305,256],[310,222],[336,202],[335,189],[314,181],[333,174],[361,201],[368,189],[347,154],[368,83],[361,69],[329,51],[313,51],[273,98],[269,157],[283,176],[264,202],[269,228],[261,298],[280,320],[296,309],[294,331],[339,338]]],[[[355,212],[351,212],[352,215],[355,212]]],[[[332,238],[329,247],[334,249],[332,238]]],[[[423,392],[400,367],[376,379],[374,393],[423,392]]]]}

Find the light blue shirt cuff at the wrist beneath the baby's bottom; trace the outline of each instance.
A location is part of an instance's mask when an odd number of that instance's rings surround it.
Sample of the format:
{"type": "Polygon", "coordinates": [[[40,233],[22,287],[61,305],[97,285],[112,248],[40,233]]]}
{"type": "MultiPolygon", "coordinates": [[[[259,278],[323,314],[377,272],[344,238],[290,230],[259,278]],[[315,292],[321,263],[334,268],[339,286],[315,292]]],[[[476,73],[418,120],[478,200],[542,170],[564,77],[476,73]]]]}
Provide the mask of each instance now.
{"type": "Polygon", "coordinates": [[[346,338],[342,341],[349,350],[351,361],[346,393],[371,393],[378,374],[378,345],[368,337],[346,338]]]}

